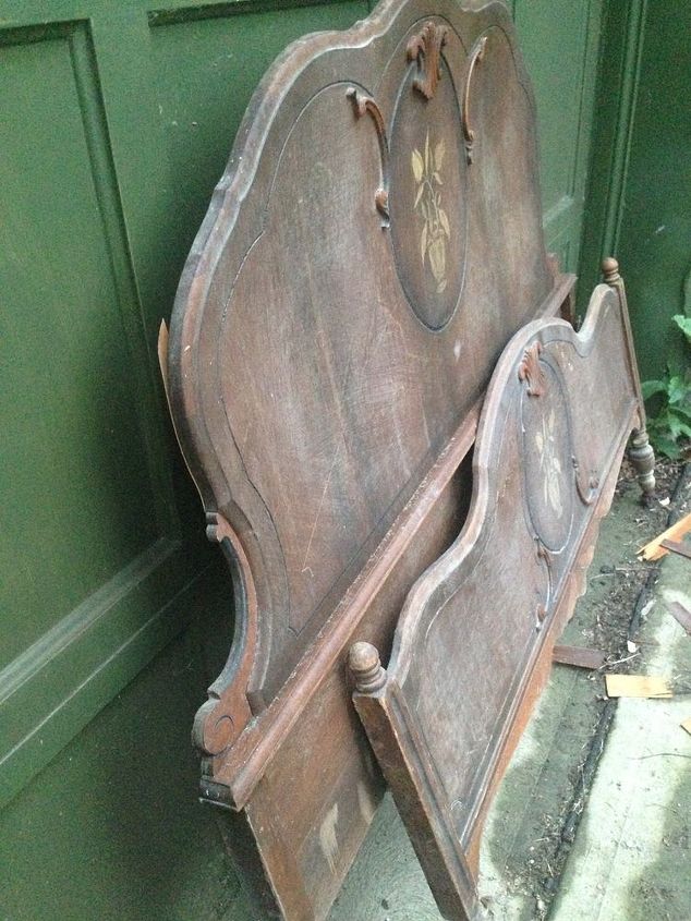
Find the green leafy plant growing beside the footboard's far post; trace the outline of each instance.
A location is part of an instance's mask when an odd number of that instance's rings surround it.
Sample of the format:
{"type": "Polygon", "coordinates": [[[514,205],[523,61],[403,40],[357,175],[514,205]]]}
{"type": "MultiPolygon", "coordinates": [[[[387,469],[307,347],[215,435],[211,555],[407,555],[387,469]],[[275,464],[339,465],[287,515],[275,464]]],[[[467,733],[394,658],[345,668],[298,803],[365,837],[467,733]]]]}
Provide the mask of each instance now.
{"type": "MultiPolygon", "coordinates": [[[[691,348],[691,316],[677,314],[672,320],[691,348]]],[[[688,453],[684,443],[691,439],[691,369],[675,371],[668,365],[662,379],[644,380],[641,389],[645,400],[662,398],[659,411],[647,422],[653,447],[672,460],[683,457],[688,453]]]]}

